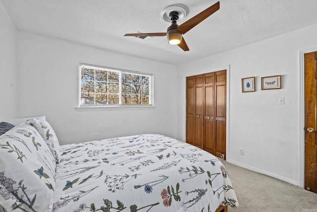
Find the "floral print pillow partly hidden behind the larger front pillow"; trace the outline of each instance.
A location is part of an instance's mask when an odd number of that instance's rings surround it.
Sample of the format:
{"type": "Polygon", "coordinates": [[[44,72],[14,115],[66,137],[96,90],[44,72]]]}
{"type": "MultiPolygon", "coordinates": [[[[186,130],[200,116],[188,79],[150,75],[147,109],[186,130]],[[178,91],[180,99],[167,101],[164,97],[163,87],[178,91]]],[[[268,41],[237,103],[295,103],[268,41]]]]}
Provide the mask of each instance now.
{"type": "Polygon", "coordinates": [[[51,125],[47,121],[39,119],[30,119],[26,123],[33,126],[40,133],[46,144],[49,146],[55,158],[55,162],[59,163],[59,142],[51,125]]]}

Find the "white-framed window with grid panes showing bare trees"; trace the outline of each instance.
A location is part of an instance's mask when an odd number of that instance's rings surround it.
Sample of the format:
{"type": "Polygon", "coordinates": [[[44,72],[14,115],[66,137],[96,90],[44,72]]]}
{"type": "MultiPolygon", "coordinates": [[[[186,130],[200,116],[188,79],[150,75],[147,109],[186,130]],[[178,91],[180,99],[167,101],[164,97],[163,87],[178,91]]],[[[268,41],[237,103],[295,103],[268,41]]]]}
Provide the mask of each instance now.
{"type": "Polygon", "coordinates": [[[153,105],[153,75],[79,65],[80,107],[153,105]]]}

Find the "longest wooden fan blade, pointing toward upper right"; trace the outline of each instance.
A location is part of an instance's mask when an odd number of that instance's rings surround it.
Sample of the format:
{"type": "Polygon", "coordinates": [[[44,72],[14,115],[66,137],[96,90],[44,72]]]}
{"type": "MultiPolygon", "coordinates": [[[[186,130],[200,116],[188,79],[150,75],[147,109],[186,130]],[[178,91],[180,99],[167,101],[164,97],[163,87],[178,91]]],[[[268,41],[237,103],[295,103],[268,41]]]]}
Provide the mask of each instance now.
{"type": "Polygon", "coordinates": [[[194,17],[192,17],[188,21],[179,25],[177,28],[178,31],[185,34],[190,29],[195,27],[197,24],[199,24],[200,22],[202,22],[203,20],[208,18],[212,13],[217,11],[219,8],[220,8],[220,3],[218,1],[215,4],[211,5],[210,7],[208,7],[207,9],[205,9],[204,11],[202,11],[201,13],[198,13],[197,15],[195,15],[194,17]]]}

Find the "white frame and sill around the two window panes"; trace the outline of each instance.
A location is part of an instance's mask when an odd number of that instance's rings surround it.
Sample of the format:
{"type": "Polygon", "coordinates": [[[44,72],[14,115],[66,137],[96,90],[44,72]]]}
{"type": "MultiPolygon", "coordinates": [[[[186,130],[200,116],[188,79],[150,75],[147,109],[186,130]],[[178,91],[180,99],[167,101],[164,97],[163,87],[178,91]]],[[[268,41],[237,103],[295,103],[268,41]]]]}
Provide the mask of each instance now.
{"type": "Polygon", "coordinates": [[[154,74],[139,72],[139,71],[130,71],[123,69],[115,69],[91,64],[80,63],[78,66],[78,107],[76,107],[77,111],[87,111],[87,110],[117,110],[117,109],[151,109],[154,108],[154,74]],[[119,73],[119,104],[105,104],[105,105],[81,105],[81,68],[88,69],[98,69],[102,71],[114,71],[119,73]],[[122,73],[135,74],[141,76],[149,76],[149,104],[148,105],[122,105],[122,73]]]}

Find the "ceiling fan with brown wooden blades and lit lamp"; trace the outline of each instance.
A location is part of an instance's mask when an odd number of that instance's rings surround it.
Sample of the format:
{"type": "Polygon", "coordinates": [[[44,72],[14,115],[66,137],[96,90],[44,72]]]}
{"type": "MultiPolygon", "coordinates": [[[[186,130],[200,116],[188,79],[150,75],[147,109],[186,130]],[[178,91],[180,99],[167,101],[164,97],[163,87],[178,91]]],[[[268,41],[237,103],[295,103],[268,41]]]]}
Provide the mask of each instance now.
{"type": "Polygon", "coordinates": [[[208,18],[212,13],[219,9],[220,3],[219,1],[215,4],[211,5],[204,11],[198,13],[191,19],[182,23],[181,25],[177,25],[176,20],[178,20],[179,12],[171,11],[169,13],[169,19],[172,21],[172,24],[167,28],[167,32],[159,32],[159,33],[134,33],[134,34],[125,34],[124,36],[167,36],[168,43],[171,45],[178,45],[184,51],[189,51],[189,48],[183,38],[183,35],[194,28],[197,24],[208,18]]]}

